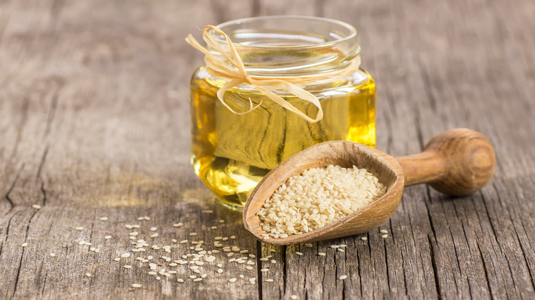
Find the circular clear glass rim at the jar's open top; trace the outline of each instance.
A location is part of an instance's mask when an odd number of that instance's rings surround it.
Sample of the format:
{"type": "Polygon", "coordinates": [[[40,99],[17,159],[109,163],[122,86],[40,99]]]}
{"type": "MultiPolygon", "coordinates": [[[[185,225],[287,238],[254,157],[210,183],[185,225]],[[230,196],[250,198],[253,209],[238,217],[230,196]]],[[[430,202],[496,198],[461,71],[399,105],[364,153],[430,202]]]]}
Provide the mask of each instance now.
{"type": "MultiPolygon", "coordinates": [[[[242,25],[242,24],[245,24],[245,23],[252,23],[254,21],[273,21],[273,20],[277,20],[277,19],[280,19],[280,20],[301,20],[301,21],[316,21],[316,22],[322,22],[322,23],[325,23],[325,24],[331,24],[331,25],[337,25],[337,26],[340,26],[340,28],[342,29],[346,29],[348,31],[348,33],[344,36],[338,36],[337,38],[335,38],[334,40],[329,40],[329,41],[326,41],[326,42],[316,42],[316,43],[311,43],[311,44],[307,44],[307,45],[276,45],[276,47],[278,49],[313,49],[313,48],[318,48],[318,47],[331,47],[333,45],[337,45],[337,44],[340,44],[340,43],[344,43],[344,42],[347,42],[351,39],[355,39],[357,37],[357,29],[355,29],[355,27],[353,27],[352,25],[349,25],[348,23],[345,23],[345,22],[342,22],[342,21],[337,21],[337,20],[334,20],[332,18],[322,18],[322,17],[318,17],[318,16],[253,16],[253,17],[250,17],[250,18],[238,18],[238,19],[235,19],[233,21],[227,21],[227,22],[224,22],[224,23],[220,23],[219,25],[217,25],[216,27],[219,28],[219,29],[222,29],[224,32],[225,32],[225,28],[226,27],[230,27],[230,26],[233,26],[233,25],[242,25]]],[[[215,34],[215,32],[211,32],[211,34],[213,34],[213,36],[215,37],[215,39],[218,41],[218,42],[222,42],[222,43],[226,43],[226,40],[224,39],[223,36],[220,36],[219,34],[215,34]]],[[[231,36],[231,32],[226,32],[226,34],[228,34],[229,36],[231,36]]],[[[331,37],[333,37],[333,35],[331,35],[331,37]]],[[[274,45],[248,45],[248,44],[243,44],[241,42],[235,42],[233,41],[233,44],[238,47],[243,47],[243,48],[246,48],[246,49],[272,49],[274,47],[274,45]]]]}

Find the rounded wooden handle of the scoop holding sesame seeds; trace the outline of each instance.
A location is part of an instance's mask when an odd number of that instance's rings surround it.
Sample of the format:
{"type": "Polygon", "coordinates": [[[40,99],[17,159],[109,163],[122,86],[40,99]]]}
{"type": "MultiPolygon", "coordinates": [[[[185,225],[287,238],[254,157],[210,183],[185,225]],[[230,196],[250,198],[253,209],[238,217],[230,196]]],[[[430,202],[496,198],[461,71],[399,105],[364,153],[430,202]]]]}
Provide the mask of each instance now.
{"type": "Polygon", "coordinates": [[[471,129],[451,129],[435,136],[422,153],[396,158],[405,186],[429,184],[453,196],[470,195],[494,174],[496,156],[490,142],[471,129]]]}

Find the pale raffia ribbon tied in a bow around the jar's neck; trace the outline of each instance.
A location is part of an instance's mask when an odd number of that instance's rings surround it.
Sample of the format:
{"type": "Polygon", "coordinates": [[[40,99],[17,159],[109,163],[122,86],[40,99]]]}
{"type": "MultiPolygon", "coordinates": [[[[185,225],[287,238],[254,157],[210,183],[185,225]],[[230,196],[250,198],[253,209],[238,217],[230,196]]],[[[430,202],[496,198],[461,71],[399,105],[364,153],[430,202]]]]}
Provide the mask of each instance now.
{"type": "Polygon", "coordinates": [[[202,38],[206,42],[207,47],[202,47],[202,45],[200,45],[199,42],[195,40],[193,36],[191,36],[191,34],[186,38],[186,42],[188,42],[189,45],[195,47],[195,49],[198,49],[199,51],[204,53],[204,63],[206,64],[206,72],[208,72],[214,77],[220,77],[229,80],[217,91],[217,99],[219,99],[219,101],[221,101],[221,103],[223,103],[223,105],[225,105],[228,110],[235,114],[247,114],[248,112],[251,112],[252,110],[258,108],[259,105],[262,104],[261,101],[258,105],[253,107],[252,101],[249,99],[249,110],[246,112],[236,112],[235,110],[230,108],[230,106],[228,106],[228,104],[225,102],[224,95],[227,90],[235,86],[239,86],[240,84],[247,83],[254,86],[254,88],[257,88],[263,95],[265,95],[269,99],[272,99],[273,101],[275,101],[275,103],[278,103],[278,105],[281,105],[283,108],[286,108],[287,110],[298,114],[298,116],[304,118],[305,120],[311,123],[316,123],[323,118],[323,110],[320,101],[318,100],[318,97],[312,95],[310,92],[307,92],[307,90],[296,86],[296,84],[310,84],[327,78],[337,78],[350,75],[357,71],[360,65],[360,58],[357,55],[357,57],[353,58],[351,63],[345,68],[326,74],[322,73],[317,75],[309,75],[306,77],[285,79],[259,78],[248,75],[245,70],[245,66],[243,65],[243,61],[239,57],[239,54],[236,51],[233,42],[221,29],[213,25],[206,25],[204,29],[202,29],[202,38]],[[228,44],[228,51],[230,53],[227,53],[227,51],[223,49],[221,45],[219,45],[219,42],[217,42],[215,37],[208,33],[209,29],[212,29],[213,31],[217,32],[218,34],[221,34],[226,38],[228,44]],[[211,53],[208,48],[221,53],[226,58],[226,61],[218,58],[217,55],[215,55],[214,53],[211,53]],[[301,112],[300,110],[295,108],[294,105],[288,103],[288,101],[283,99],[281,96],[276,95],[274,92],[272,92],[272,90],[266,87],[270,87],[274,90],[287,92],[288,94],[295,95],[296,97],[304,101],[312,103],[316,106],[316,108],[318,108],[318,114],[316,114],[316,118],[311,118],[310,116],[307,116],[307,114],[301,112]]]}

